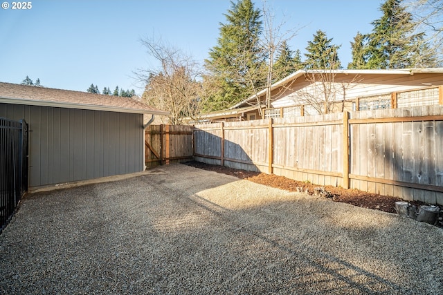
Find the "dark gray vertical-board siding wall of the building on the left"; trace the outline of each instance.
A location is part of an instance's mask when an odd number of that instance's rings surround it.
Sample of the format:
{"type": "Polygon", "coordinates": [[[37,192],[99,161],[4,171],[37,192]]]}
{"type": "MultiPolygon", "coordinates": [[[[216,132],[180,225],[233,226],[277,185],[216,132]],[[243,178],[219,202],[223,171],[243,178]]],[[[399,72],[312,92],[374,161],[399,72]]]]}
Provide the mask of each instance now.
{"type": "Polygon", "coordinates": [[[29,124],[29,187],[143,171],[143,115],[0,104],[29,124]]]}

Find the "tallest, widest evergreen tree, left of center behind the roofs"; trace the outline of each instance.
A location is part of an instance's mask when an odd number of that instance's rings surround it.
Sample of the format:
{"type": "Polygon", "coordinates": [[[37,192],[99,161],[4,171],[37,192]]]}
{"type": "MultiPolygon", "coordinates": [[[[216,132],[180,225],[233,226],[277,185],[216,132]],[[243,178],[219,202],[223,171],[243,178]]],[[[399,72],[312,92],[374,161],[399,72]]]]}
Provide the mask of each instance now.
{"type": "MultiPolygon", "coordinates": [[[[251,85],[248,84],[251,79],[245,77],[262,67],[264,61],[258,44],[262,32],[261,14],[253,2],[231,2],[231,9],[225,17],[226,23],[221,23],[217,45],[210,50],[205,61],[219,89],[210,99],[212,110],[226,108],[251,95],[251,85]]],[[[262,81],[255,83],[259,85],[262,81]]]]}

